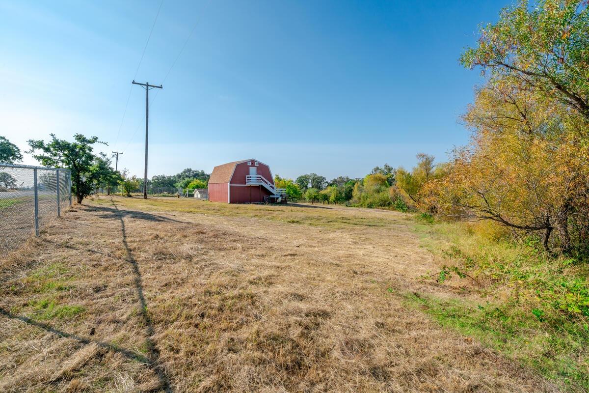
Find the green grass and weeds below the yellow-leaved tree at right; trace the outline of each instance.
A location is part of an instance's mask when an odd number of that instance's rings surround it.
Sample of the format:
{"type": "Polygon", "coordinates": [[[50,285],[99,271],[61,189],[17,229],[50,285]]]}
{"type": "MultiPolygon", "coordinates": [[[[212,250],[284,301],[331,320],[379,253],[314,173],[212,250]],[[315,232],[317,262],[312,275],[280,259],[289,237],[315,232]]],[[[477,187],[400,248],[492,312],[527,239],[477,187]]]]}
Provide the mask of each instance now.
{"type": "Polygon", "coordinates": [[[429,280],[468,280],[491,302],[410,296],[411,305],[548,378],[569,381],[573,391],[589,391],[589,263],[515,242],[489,223],[416,217],[414,228],[444,260],[429,280]]]}

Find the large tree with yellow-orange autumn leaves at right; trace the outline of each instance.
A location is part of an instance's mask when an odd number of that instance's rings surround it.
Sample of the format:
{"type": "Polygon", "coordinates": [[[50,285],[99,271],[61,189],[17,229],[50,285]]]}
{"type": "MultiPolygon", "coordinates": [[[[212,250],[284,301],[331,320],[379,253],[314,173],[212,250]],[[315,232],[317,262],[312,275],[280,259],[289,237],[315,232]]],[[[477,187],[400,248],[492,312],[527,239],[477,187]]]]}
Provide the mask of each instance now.
{"type": "Polygon", "coordinates": [[[448,216],[537,233],[545,249],[570,250],[573,237],[586,244],[585,121],[510,82],[478,90],[463,117],[471,143],[453,151],[446,176],[423,187],[423,203],[448,216]]]}

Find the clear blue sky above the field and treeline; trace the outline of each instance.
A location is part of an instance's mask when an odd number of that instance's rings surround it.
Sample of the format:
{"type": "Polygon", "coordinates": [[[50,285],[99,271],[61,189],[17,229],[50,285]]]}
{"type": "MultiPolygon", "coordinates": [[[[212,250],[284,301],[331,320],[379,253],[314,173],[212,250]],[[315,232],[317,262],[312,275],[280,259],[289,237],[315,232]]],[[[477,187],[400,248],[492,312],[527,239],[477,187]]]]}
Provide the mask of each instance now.
{"type": "Polygon", "coordinates": [[[150,176],[250,157],[328,178],[411,167],[421,151],[445,160],[481,82],[457,59],[510,3],[0,0],[0,135],[21,150],[98,136],[142,174],[137,72],[164,84],[150,92],[150,176]]]}

